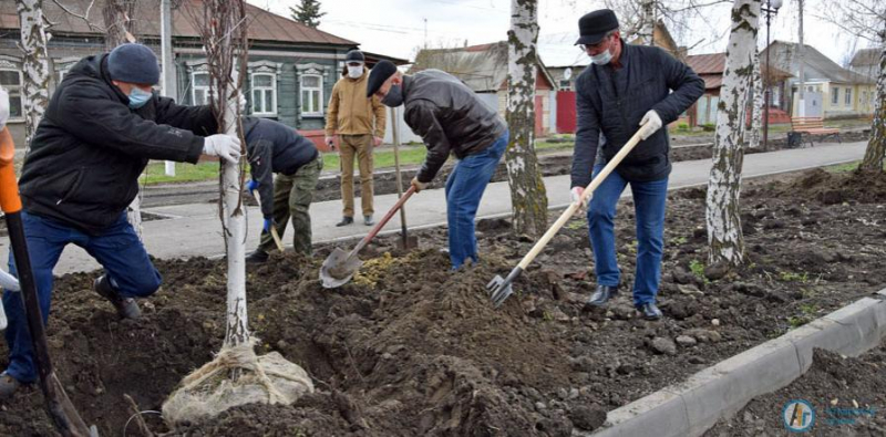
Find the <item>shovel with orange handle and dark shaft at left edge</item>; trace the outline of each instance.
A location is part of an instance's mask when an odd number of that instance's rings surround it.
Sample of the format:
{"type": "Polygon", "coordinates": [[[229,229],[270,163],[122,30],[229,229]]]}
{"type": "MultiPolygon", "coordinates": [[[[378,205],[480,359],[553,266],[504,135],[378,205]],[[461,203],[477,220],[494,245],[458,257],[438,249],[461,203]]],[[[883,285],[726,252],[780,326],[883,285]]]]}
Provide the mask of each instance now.
{"type": "Polygon", "coordinates": [[[64,387],[59,377],[55,376],[55,371],[52,368],[52,362],[49,357],[43,316],[40,313],[37,287],[33,271],[31,270],[31,259],[28,254],[24,227],[21,221],[19,184],[16,181],[16,171],[12,164],[14,157],[16,147],[12,144],[12,136],[9,134],[9,128],[4,127],[0,132],[0,207],[6,212],[9,242],[12,247],[16,268],[19,273],[20,295],[24,303],[28,330],[31,332],[31,346],[34,351],[37,370],[40,374],[40,388],[47,399],[49,415],[61,435],[65,437],[97,437],[99,430],[95,426],[86,427],[68,394],[64,393],[64,387]]]}

